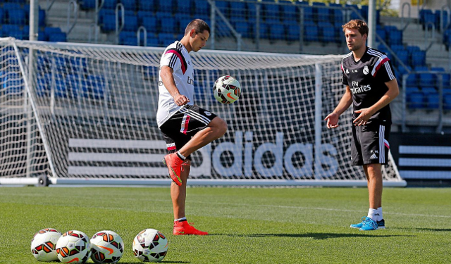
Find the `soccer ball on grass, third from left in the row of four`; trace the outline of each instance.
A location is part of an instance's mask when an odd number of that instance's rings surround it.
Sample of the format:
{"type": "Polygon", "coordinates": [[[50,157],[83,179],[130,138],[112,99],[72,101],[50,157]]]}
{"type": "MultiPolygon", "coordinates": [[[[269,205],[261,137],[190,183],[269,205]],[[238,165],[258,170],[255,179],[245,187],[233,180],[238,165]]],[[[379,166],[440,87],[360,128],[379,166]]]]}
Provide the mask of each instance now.
{"type": "Polygon", "coordinates": [[[91,259],[95,263],[117,263],[124,253],[124,242],[116,232],[99,231],[91,238],[91,259]]]}

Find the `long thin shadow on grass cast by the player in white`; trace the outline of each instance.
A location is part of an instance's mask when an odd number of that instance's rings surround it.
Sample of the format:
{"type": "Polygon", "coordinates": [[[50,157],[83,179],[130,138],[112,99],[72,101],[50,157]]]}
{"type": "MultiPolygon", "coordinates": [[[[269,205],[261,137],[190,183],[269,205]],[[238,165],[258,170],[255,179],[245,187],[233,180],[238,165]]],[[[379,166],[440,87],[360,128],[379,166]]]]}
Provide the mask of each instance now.
{"type": "Polygon", "coordinates": [[[335,239],[340,237],[414,237],[402,234],[352,234],[352,233],[302,233],[302,234],[211,234],[226,235],[230,237],[310,237],[312,239],[335,239]]]}

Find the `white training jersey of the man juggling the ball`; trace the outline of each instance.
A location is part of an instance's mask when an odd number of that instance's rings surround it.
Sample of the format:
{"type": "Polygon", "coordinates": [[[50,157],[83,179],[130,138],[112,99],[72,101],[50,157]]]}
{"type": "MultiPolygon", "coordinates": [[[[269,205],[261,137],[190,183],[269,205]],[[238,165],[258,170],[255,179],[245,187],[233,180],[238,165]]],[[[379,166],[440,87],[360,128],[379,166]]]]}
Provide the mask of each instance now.
{"type": "Polygon", "coordinates": [[[194,68],[192,67],[191,56],[185,46],[176,41],[164,50],[160,60],[158,111],[156,111],[156,122],[159,127],[181,108],[181,106],[175,104],[173,97],[161,81],[160,73],[163,66],[173,69],[175,86],[177,86],[180,94],[190,100],[187,104],[194,104],[194,68]]]}

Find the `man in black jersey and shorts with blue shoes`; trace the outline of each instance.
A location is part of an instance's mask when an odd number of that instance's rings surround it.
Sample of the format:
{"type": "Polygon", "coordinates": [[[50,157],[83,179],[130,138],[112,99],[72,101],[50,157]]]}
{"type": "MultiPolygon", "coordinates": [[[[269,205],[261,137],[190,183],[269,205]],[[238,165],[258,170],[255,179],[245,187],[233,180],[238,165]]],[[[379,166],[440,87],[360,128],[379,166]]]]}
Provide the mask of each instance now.
{"type": "Polygon", "coordinates": [[[382,165],[388,161],[390,101],[399,88],[390,60],[383,52],[366,46],[368,25],[350,20],[342,25],[350,53],[342,58],[342,84],[345,94],[335,110],[326,116],[328,128],[338,127],[338,118],[352,104],[352,165],[362,165],[368,181],[369,213],[359,230],[385,228],[382,217],[382,165]]]}

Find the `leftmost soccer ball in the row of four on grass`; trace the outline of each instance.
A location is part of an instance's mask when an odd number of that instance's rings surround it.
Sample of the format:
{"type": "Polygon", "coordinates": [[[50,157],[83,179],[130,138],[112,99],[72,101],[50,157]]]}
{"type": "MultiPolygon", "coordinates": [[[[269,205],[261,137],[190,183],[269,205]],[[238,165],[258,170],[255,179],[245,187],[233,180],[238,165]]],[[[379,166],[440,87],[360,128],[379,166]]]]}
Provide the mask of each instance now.
{"type": "Polygon", "coordinates": [[[58,260],[56,255],[56,242],[61,232],[54,228],[39,230],[31,239],[31,253],[39,261],[58,260]]]}

